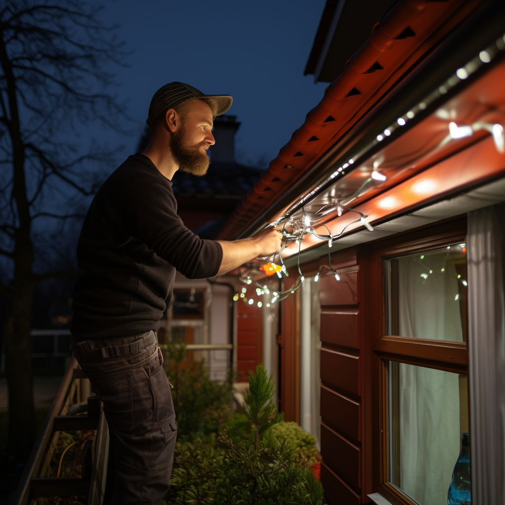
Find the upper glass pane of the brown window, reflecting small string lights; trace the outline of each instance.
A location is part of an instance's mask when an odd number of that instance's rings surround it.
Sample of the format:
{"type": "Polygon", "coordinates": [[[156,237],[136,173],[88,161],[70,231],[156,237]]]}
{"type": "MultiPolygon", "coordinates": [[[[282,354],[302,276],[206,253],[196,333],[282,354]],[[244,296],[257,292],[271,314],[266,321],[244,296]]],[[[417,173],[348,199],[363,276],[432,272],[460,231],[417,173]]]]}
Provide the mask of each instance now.
{"type": "Polygon", "coordinates": [[[389,335],[466,341],[465,244],[393,258],[385,267],[389,335]]]}

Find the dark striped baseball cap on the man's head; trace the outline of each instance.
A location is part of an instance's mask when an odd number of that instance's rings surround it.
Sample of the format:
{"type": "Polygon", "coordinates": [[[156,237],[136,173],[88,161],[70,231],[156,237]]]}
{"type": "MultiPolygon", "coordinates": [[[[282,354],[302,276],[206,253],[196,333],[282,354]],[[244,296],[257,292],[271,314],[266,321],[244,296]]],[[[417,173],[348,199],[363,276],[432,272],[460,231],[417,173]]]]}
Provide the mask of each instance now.
{"type": "Polygon", "coordinates": [[[184,82],[169,82],[154,94],[145,122],[149,125],[149,128],[152,128],[168,109],[179,107],[195,98],[211,98],[214,100],[218,110],[216,116],[224,114],[233,102],[231,95],[206,95],[199,89],[184,82]]]}

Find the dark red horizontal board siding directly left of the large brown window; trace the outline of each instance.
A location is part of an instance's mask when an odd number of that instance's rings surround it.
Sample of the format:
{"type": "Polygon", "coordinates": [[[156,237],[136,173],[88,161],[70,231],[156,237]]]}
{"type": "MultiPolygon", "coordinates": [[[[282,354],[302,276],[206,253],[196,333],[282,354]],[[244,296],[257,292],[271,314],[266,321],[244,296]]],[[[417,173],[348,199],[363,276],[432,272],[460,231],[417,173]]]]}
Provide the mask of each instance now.
{"type": "Polygon", "coordinates": [[[332,266],[340,282],[323,268],[320,291],[321,482],[331,505],[358,504],[363,488],[363,392],[357,249],[334,255],[332,266]]]}

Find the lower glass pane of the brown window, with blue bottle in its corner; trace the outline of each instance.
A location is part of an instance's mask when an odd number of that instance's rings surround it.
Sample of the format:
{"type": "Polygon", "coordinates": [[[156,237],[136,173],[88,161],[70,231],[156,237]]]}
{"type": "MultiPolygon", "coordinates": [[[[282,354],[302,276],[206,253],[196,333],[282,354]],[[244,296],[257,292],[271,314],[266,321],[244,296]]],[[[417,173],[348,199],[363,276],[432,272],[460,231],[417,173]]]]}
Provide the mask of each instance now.
{"type": "Polygon", "coordinates": [[[449,503],[470,503],[467,377],[389,362],[388,381],[391,483],[421,505],[447,503],[449,487],[449,503]]]}

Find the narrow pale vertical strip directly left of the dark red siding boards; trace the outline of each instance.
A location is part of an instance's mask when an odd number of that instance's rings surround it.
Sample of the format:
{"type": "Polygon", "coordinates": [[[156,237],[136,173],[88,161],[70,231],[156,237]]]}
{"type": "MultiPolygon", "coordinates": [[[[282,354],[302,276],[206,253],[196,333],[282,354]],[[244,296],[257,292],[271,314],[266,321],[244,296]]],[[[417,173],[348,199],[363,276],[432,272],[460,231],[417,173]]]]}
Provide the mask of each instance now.
{"type": "Polygon", "coordinates": [[[321,340],[319,282],[306,278],[301,287],[300,421],[301,427],[316,438],[321,448],[321,379],[319,372],[321,340]]]}

